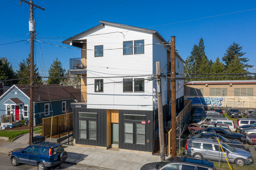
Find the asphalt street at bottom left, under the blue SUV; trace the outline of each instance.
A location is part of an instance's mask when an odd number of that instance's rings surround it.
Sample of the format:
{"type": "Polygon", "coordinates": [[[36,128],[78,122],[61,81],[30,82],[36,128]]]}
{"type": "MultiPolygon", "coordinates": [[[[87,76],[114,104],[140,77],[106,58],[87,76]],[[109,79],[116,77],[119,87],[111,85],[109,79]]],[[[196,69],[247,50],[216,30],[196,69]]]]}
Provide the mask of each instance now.
{"type": "MultiPolygon", "coordinates": [[[[93,166],[73,165],[70,163],[61,163],[60,165],[48,168],[48,170],[109,170],[104,168],[95,168],[93,166]]],[[[20,164],[12,166],[10,157],[5,154],[0,154],[0,170],[37,170],[37,166],[20,164]]]]}

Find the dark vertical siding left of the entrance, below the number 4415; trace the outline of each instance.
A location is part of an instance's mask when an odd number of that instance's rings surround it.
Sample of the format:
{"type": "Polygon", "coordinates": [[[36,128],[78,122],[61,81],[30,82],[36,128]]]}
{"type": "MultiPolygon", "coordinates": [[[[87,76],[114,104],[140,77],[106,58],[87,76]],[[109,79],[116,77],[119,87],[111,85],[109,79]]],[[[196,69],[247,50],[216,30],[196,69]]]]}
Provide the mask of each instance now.
{"type": "Polygon", "coordinates": [[[77,144],[87,144],[93,146],[107,146],[107,110],[106,109],[89,109],[73,108],[74,116],[74,135],[77,144]],[[79,139],[79,114],[78,112],[97,113],[97,140],[79,139]]]}

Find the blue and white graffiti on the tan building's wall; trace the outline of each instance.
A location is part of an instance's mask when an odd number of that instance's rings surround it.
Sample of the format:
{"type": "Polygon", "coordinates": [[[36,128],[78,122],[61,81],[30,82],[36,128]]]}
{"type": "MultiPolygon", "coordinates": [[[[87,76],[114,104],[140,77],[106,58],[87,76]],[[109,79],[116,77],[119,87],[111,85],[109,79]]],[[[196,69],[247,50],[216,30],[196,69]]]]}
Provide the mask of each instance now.
{"type": "Polygon", "coordinates": [[[193,97],[187,98],[187,100],[192,100],[192,104],[204,104],[204,105],[211,105],[211,106],[221,106],[221,101],[225,99],[223,97],[193,97]]]}

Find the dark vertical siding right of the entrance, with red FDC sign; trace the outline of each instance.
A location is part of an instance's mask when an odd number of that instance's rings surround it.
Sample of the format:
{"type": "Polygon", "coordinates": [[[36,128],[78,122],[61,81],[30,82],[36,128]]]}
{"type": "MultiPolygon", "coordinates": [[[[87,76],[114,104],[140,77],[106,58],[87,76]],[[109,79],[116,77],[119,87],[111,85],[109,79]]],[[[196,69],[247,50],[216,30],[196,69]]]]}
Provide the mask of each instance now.
{"type": "Polygon", "coordinates": [[[153,114],[154,111],[145,110],[119,110],[119,148],[153,152],[153,114]],[[146,115],[145,145],[124,143],[124,114],[146,115]],[[148,124],[150,121],[150,124],[148,124]],[[147,143],[149,140],[149,143],[147,143]]]}

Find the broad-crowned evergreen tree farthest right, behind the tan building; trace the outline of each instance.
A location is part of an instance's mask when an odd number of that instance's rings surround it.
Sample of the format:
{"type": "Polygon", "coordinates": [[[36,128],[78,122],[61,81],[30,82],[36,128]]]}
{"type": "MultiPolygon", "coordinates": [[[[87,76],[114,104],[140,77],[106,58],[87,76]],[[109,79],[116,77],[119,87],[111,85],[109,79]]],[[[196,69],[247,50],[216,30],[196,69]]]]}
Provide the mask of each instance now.
{"type": "Polygon", "coordinates": [[[243,53],[242,49],[243,47],[240,47],[239,44],[235,42],[233,42],[233,44],[230,44],[228,49],[226,49],[226,53],[224,53],[224,56],[222,57],[222,60],[226,64],[226,68],[235,58],[237,58],[237,61],[242,64],[243,68],[252,68],[252,65],[247,64],[249,60],[243,57],[245,53],[243,53]]]}

